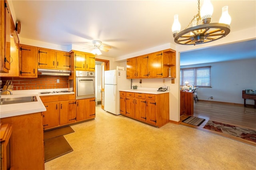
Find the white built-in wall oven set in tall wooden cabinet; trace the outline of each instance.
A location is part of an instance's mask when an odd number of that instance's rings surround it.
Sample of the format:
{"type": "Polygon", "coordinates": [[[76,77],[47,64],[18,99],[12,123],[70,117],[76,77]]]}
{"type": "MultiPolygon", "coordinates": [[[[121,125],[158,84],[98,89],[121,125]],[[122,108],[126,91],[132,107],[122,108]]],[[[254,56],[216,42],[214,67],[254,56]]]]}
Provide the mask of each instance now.
{"type": "Polygon", "coordinates": [[[76,71],[76,99],[95,97],[95,75],[92,71],[76,71]]]}

